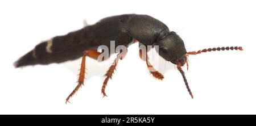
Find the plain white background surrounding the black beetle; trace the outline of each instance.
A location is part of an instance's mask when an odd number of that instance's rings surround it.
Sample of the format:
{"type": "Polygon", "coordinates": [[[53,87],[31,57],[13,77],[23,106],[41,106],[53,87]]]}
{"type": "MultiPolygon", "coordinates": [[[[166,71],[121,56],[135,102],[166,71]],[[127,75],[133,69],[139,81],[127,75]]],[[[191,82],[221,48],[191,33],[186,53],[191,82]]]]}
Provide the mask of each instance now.
{"type": "Polygon", "coordinates": [[[255,1],[1,1],[0,114],[256,114],[255,6],[255,1]],[[71,104],[65,98],[76,86],[81,58],[13,67],[40,41],[79,30],[84,19],[94,24],[130,13],[161,20],[183,38],[187,51],[222,46],[244,51],[190,56],[185,75],[194,99],[175,65],[162,61],[164,80],[151,77],[137,44],[119,62],[105,98],[101,86],[111,59],[98,64],[87,58],[85,86],[71,104]]]}

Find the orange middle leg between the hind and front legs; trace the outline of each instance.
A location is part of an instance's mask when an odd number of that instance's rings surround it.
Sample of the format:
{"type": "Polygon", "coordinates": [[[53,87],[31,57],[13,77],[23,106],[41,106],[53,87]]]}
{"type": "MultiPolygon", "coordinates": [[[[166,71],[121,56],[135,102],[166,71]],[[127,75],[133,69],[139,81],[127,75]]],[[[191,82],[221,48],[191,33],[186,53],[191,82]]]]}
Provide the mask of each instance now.
{"type": "Polygon", "coordinates": [[[107,96],[105,93],[105,89],[106,89],[106,86],[108,85],[109,78],[112,79],[112,75],[114,73],[115,68],[117,67],[118,60],[119,59],[122,60],[125,57],[126,53],[127,52],[121,52],[121,53],[117,54],[117,57],[115,58],[113,64],[110,66],[109,70],[106,72],[106,74],[105,74],[106,78],[105,78],[102,88],[101,88],[101,93],[103,94],[103,97],[107,96]]]}

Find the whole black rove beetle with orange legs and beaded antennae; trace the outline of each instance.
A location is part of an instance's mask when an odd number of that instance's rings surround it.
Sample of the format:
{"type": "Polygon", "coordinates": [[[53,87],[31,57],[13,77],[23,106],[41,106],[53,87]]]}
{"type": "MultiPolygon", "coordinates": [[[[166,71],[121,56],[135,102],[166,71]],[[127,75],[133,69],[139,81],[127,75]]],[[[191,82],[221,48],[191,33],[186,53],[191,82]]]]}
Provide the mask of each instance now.
{"type": "MultiPolygon", "coordinates": [[[[84,85],[85,78],[85,57],[99,59],[103,52],[98,52],[97,48],[101,45],[110,47],[110,42],[114,40],[114,47],[119,45],[129,47],[130,44],[139,41],[139,45],[142,46],[158,46],[159,55],[166,61],[172,62],[177,65],[177,69],[181,73],[188,93],[193,98],[193,94],[189,89],[187,79],[185,78],[184,71],[181,66],[187,64],[187,57],[189,54],[199,54],[202,52],[210,51],[224,51],[224,50],[240,50],[242,47],[218,47],[208,48],[200,51],[187,52],[183,40],[174,31],[170,31],[166,24],[160,22],[148,15],[137,14],[124,14],[117,16],[110,16],[108,18],[101,19],[96,24],[86,26],[81,30],[70,32],[67,35],[56,36],[47,41],[35,46],[27,54],[24,54],[18,61],[14,63],[16,68],[28,65],[47,65],[53,62],[60,63],[68,60],[75,60],[82,57],[81,69],[79,74],[78,84],[70,95],[66,99],[66,103],[69,99],[84,85]]],[[[149,49],[139,49],[139,56],[142,60],[146,61],[146,65],[150,73],[158,79],[163,79],[164,76],[156,71],[154,67],[148,61],[147,52],[149,49]]],[[[109,54],[116,52],[107,52],[109,54]]],[[[122,60],[125,57],[127,51],[120,51],[117,54],[113,64],[106,72],[106,78],[103,82],[101,93],[106,96],[105,88],[108,80],[112,78],[113,72],[118,64],[118,60],[122,60]]],[[[108,57],[101,57],[102,61],[108,57]]]]}

